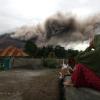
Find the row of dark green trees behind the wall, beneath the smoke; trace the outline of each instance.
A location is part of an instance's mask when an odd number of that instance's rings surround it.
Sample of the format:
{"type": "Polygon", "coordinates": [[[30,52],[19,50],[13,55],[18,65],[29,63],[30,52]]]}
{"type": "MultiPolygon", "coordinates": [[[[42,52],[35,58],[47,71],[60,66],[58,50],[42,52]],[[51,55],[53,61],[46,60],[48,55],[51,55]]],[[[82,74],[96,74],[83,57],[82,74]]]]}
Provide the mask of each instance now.
{"type": "Polygon", "coordinates": [[[65,50],[64,47],[61,47],[60,45],[52,46],[44,46],[44,47],[37,47],[37,45],[28,40],[24,47],[25,52],[27,52],[30,56],[34,58],[69,58],[76,56],[79,51],[78,50],[72,50],[68,49],[65,50]]]}

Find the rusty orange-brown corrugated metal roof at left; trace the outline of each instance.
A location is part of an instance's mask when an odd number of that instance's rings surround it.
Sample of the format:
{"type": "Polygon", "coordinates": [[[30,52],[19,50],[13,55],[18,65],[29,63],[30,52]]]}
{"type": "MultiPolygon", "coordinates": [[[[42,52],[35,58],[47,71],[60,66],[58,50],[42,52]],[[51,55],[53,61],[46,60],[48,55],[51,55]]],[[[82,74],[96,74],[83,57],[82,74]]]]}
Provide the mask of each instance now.
{"type": "Polygon", "coordinates": [[[0,50],[0,56],[28,56],[22,49],[9,46],[4,50],[0,50]]]}

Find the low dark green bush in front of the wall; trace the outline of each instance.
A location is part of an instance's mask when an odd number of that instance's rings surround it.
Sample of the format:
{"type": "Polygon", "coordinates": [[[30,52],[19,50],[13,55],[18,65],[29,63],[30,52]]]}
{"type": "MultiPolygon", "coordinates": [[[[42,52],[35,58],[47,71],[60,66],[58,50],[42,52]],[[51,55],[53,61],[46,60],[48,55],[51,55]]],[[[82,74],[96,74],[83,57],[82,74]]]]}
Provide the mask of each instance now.
{"type": "Polygon", "coordinates": [[[56,68],[58,65],[56,59],[52,58],[43,59],[42,62],[43,66],[46,68],[56,68]]]}

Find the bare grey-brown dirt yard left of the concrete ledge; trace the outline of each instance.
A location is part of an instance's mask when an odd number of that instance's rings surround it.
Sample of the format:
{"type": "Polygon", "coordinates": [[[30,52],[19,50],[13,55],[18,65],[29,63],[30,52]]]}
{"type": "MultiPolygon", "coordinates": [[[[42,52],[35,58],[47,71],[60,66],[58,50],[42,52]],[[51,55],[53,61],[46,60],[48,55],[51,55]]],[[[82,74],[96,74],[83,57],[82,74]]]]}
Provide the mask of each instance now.
{"type": "Polygon", "coordinates": [[[0,72],[0,100],[59,100],[57,70],[0,72]]]}

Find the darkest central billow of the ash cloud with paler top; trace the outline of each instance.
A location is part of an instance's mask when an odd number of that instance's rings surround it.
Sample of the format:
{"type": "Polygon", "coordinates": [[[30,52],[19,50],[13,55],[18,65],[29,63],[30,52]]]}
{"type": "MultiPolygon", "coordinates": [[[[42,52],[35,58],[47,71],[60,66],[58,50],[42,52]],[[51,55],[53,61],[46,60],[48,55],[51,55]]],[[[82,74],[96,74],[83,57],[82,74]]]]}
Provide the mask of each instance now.
{"type": "Polygon", "coordinates": [[[73,17],[66,18],[58,14],[56,17],[51,17],[46,20],[45,30],[48,39],[52,36],[59,37],[60,35],[77,31],[77,22],[73,17]]]}

